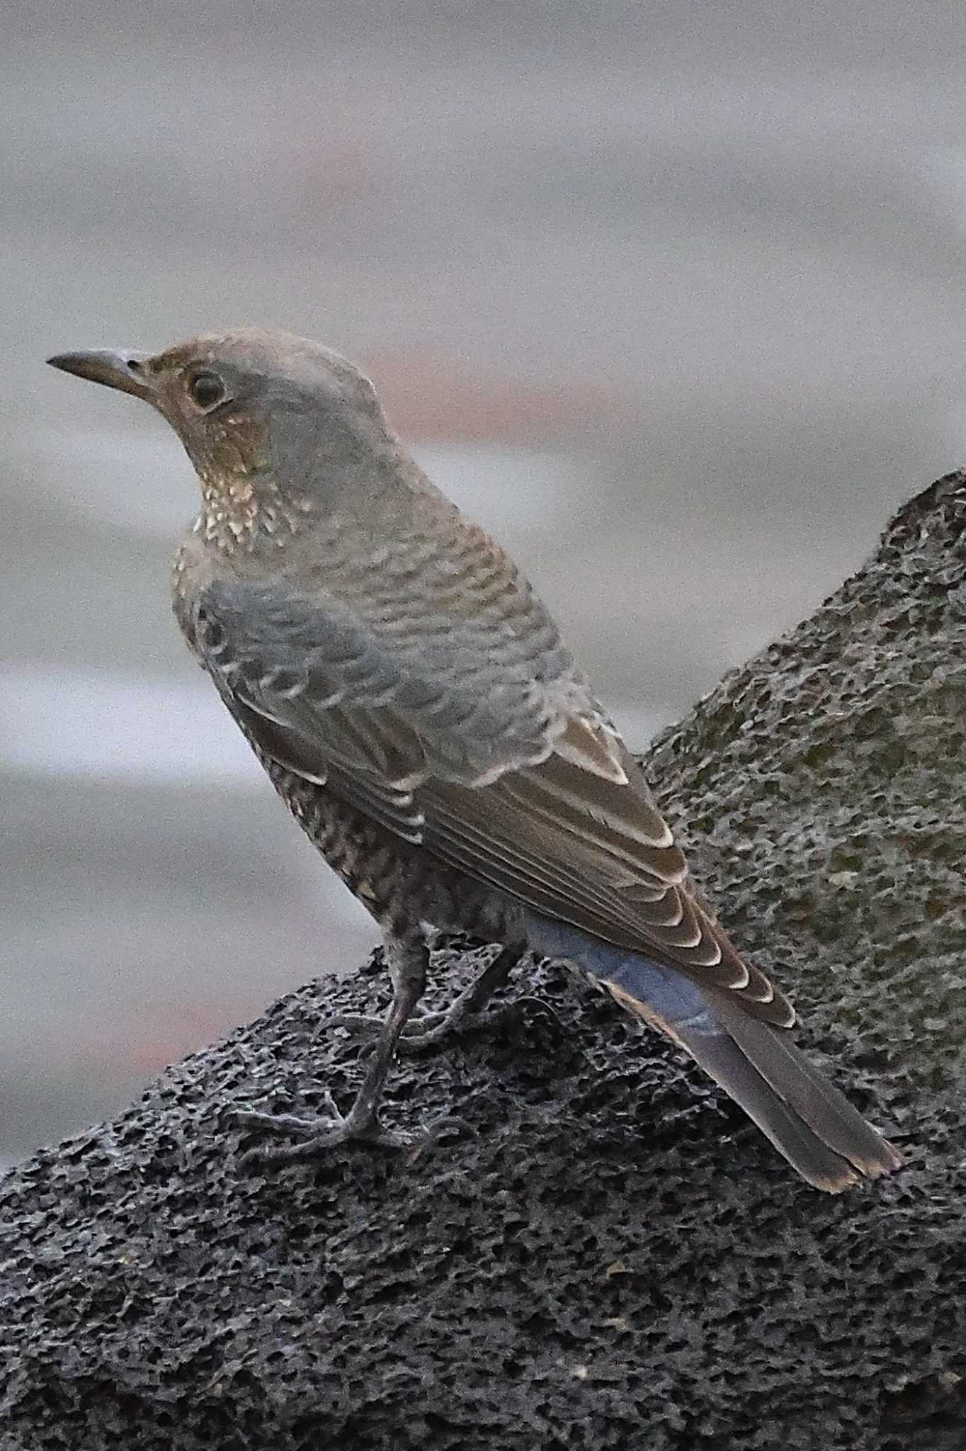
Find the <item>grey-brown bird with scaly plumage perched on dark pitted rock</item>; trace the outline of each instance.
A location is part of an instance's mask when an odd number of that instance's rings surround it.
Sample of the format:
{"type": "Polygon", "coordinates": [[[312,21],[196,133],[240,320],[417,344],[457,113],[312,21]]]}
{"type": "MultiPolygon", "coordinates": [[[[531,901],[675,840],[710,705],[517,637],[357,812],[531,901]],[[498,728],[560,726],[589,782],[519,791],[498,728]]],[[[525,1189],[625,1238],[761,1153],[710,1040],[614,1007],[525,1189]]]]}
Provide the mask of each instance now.
{"type": "Polygon", "coordinates": [[[177,622],[383,934],[393,998],[351,1107],[238,1109],[260,1162],[412,1142],[379,1113],[397,1052],[484,1022],[532,950],[670,1037],[812,1187],[899,1167],[703,901],[529,579],[422,473],[363,371],[258,328],[48,361],[152,405],[184,444],[202,502],[173,566],[177,622]],[[434,930],[498,952],[419,1014],[434,930]]]}

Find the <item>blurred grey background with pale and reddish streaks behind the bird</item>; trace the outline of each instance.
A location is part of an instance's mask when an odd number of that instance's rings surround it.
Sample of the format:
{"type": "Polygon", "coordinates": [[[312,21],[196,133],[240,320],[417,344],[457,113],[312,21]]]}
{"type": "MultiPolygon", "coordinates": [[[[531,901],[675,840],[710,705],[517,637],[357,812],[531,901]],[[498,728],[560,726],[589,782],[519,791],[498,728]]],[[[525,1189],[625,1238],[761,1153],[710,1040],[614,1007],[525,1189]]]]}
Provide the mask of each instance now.
{"type": "Polygon", "coordinates": [[[962,0],[9,9],[0,1156],[374,930],[168,614],[146,408],[241,322],[361,361],[641,746],[962,460],[962,0]]]}

